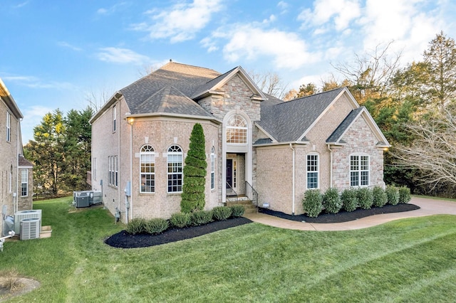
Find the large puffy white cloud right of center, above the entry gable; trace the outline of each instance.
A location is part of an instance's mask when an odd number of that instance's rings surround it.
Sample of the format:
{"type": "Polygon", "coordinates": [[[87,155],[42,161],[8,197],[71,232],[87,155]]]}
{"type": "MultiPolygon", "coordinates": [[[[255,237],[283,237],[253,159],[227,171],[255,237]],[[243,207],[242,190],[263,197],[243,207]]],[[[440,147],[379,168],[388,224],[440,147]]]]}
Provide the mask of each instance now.
{"type": "Polygon", "coordinates": [[[306,42],[296,33],[264,29],[254,24],[219,28],[212,33],[212,38],[228,40],[223,53],[230,62],[272,58],[276,68],[296,69],[314,62],[319,56],[318,53],[311,53],[306,42]]]}

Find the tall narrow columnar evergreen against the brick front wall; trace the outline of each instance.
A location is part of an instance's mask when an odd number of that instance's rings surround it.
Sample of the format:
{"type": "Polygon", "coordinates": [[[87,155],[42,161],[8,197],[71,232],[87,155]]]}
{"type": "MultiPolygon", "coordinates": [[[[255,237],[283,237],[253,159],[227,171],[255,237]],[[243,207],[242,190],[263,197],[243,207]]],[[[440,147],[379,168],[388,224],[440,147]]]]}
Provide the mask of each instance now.
{"type": "Polygon", "coordinates": [[[206,144],[201,124],[193,127],[190,148],[185,157],[184,185],[180,209],[183,213],[202,210],[205,204],[204,185],[206,184],[206,144]]]}

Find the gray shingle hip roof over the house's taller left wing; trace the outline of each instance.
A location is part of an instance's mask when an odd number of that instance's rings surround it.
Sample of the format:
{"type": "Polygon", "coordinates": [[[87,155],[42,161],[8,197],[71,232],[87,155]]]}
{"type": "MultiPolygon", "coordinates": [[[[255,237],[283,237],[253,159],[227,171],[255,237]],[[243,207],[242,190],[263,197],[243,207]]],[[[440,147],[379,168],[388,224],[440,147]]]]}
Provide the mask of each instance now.
{"type": "Polygon", "coordinates": [[[189,97],[219,75],[208,68],[170,62],[120,92],[133,115],[150,112],[210,115],[189,97]]]}

